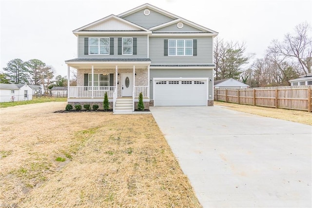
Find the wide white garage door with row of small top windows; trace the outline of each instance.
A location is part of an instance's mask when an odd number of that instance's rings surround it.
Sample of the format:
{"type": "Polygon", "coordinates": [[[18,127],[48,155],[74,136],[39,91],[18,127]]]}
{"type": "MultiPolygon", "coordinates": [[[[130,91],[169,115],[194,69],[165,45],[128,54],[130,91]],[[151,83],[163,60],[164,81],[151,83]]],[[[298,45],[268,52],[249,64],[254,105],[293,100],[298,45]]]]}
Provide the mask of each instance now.
{"type": "Polygon", "coordinates": [[[207,79],[155,79],[155,106],[207,105],[207,79]]]}

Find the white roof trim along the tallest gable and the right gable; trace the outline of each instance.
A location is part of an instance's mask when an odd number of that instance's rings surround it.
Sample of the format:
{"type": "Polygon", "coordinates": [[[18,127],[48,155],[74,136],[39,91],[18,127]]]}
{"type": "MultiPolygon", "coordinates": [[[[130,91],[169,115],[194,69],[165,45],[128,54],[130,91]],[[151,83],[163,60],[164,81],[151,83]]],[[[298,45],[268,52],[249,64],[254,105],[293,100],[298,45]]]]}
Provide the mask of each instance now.
{"type": "Polygon", "coordinates": [[[203,26],[201,26],[199,24],[196,24],[196,23],[194,23],[192,21],[188,21],[188,20],[186,20],[184,18],[181,18],[181,17],[179,17],[177,15],[174,15],[174,14],[172,14],[170,12],[167,12],[167,11],[165,11],[163,9],[160,9],[160,8],[158,8],[156,6],[153,6],[153,5],[149,4],[149,3],[145,3],[145,4],[143,4],[141,6],[138,6],[138,7],[134,8],[134,9],[131,9],[129,11],[121,13],[121,14],[118,15],[118,17],[124,18],[124,17],[126,17],[126,16],[128,16],[130,14],[133,14],[133,13],[135,13],[137,11],[140,11],[140,10],[146,9],[146,8],[147,9],[152,9],[152,10],[154,10],[154,11],[156,11],[156,12],[162,14],[162,15],[165,15],[167,17],[170,17],[170,18],[174,19],[173,21],[169,21],[169,22],[166,22],[164,24],[160,24],[160,25],[157,25],[155,27],[149,28],[149,30],[156,30],[156,29],[168,26],[169,24],[173,24],[173,23],[181,21],[181,22],[186,23],[186,24],[188,24],[190,26],[193,26],[193,27],[195,27],[195,28],[197,28],[199,30],[202,30],[203,32],[210,32],[210,33],[214,34],[215,36],[218,35],[218,32],[216,32],[214,30],[211,30],[209,28],[203,27],[203,26]]]}

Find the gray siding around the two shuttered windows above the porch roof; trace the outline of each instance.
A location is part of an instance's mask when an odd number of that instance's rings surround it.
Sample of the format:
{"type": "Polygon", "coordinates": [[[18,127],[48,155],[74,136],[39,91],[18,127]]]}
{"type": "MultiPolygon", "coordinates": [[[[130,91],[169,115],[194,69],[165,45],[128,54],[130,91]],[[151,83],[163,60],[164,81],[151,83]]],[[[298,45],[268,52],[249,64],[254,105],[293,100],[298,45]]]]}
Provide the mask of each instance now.
{"type": "Polygon", "coordinates": [[[147,36],[146,35],[79,35],[78,58],[89,59],[111,59],[111,58],[147,58],[147,36]],[[114,38],[114,55],[84,55],[84,38],[114,38]],[[137,38],[137,55],[118,55],[118,38],[137,38]]]}

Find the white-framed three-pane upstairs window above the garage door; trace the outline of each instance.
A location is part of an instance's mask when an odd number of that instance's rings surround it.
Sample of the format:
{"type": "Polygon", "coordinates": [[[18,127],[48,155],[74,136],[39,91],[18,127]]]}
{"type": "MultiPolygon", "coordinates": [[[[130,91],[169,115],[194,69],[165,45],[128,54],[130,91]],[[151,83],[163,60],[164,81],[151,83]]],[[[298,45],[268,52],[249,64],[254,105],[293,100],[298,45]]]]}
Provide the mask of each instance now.
{"type": "Polygon", "coordinates": [[[193,56],[193,40],[168,40],[169,56],[193,56]]]}

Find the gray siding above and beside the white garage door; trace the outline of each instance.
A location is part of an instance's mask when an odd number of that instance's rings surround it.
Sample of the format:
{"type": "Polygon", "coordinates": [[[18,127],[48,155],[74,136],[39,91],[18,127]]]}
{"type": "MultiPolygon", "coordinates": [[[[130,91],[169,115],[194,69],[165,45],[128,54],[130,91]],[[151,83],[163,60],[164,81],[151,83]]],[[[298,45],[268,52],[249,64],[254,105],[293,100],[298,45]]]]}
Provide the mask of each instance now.
{"type": "MultiPolygon", "coordinates": [[[[153,78],[213,78],[213,69],[150,69],[150,79],[153,78]]],[[[213,98],[213,82],[208,83],[209,100],[213,98]]],[[[186,95],[187,96],[187,95],[186,95]]],[[[153,81],[150,82],[150,99],[153,100],[153,81]]]]}

